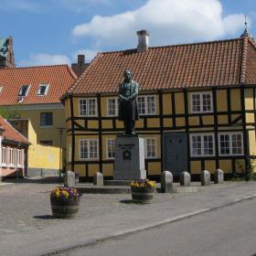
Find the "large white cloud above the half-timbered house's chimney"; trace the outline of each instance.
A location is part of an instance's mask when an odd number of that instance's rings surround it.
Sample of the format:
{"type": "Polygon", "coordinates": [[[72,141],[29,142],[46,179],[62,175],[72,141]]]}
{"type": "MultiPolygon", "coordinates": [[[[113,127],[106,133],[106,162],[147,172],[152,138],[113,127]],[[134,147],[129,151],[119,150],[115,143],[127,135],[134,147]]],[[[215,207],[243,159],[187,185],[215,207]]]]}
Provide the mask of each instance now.
{"type": "Polygon", "coordinates": [[[77,25],[74,37],[91,37],[99,47],[134,47],[135,31],[150,32],[150,45],[239,37],[243,15],[222,16],[219,0],[148,0],[143,6],[114,16],[93,16],[77,25]]]}

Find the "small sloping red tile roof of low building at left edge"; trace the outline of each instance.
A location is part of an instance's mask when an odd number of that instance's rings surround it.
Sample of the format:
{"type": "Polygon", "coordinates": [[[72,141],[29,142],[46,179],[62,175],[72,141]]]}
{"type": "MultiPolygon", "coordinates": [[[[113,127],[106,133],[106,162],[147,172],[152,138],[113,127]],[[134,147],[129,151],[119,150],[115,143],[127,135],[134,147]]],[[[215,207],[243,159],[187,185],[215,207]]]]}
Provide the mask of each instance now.
{"type": "Polygon", "coordinates": [[[16,129],[10,123],[8,123],[2,116],[0,116],[0,127],[4,129],[4,139],[20,142],[23,144],[29,144],[27,138],[23,136],[21,133],[18,133],[16,129]]]}

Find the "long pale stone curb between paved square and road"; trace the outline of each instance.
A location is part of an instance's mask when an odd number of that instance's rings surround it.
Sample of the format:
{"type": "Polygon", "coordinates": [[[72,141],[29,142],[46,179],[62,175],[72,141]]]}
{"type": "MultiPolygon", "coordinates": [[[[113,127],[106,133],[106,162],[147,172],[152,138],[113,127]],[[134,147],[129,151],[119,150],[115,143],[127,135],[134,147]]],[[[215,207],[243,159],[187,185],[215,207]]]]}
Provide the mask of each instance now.
{"type": "Polygon", "coordinates": [[[115,238],[120,238],[120,237],[124,237],[124,236],[130,235],[130,234],[133,234],[133,233],[144,231],[144,230],[147,230],[147,229],[154,229],[154,228],[157,228],[157,227],[161,227],[165,224],[173,223],[173,222],[176,222],[176,221],[179,221],[179,220],[182,220],[182,219],[192,218],[194,216],[203,214],[205,212],[214,211],[214,210],[217,210],[219,208],[229,207],[229,206],[235,205],[237,203],[240,203],[242,201],[251,200],[255,197],[256,197],[256,194],[253,194],[249,197],[242,197],[240,199],[235,199],[234,201],[231,201],[231,202],[229,202],[225,205],[221,205],[221,206],[218,206],[218,207],[202,208],[202,209],[194,211],[194,212],[190,212],[190,213],[180,215],[178,217],[174,217],[174,218],[170,218],[170,219],[164,219],[162,221],[155,222],[154,224],[142,226],[140,228],[127,229],[127,230],[124,230],[124,231],[119,231],[119,232],[112,233],[112,234],[107,235],[107,236],[100,236],[100,237],[97,237],[97,238],[94,238],[94,239],[91,239],[91,240],[86,240],[84,242],[73,243],[69,246],[59,247],[55,250],[49,250],[49,251],[46,251],[42,254],[37,254],[37,255],[38,256],[58,255],[59,253],[63,253],[63,252],[66,252],[66,251],[72,251],[74,249],[83,248],[83,247],[87,247],[87,246],[92,246],[92,245],[95,245],[98,242],[112,240],[112,239],[115,239],[115,238]]]}

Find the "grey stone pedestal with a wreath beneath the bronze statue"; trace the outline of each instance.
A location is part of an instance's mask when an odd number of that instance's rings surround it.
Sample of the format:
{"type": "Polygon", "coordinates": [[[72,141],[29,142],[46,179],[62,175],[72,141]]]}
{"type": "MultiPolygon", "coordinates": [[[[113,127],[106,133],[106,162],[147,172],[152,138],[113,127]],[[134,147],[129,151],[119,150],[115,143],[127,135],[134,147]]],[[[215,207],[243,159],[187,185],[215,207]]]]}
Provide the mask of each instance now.
{"type": "Polygon", "coordinates": [[[114,180],[146,178],[144,169],[144,139],[136,136],[116,138],[114,180]]]}

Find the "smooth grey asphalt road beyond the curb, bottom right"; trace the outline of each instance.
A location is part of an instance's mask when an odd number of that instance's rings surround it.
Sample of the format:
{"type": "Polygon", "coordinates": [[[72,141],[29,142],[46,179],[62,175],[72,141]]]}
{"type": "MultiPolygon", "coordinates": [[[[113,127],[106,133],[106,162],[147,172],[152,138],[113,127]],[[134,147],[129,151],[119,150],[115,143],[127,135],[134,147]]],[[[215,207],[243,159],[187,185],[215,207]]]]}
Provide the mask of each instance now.
{"type": "Polygon", "coordinates": [[[253,198],[59,255],[252,256],[256,255],[255,210],[253,198]]]}

